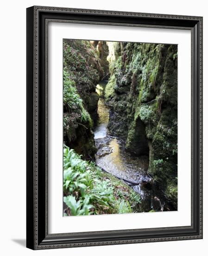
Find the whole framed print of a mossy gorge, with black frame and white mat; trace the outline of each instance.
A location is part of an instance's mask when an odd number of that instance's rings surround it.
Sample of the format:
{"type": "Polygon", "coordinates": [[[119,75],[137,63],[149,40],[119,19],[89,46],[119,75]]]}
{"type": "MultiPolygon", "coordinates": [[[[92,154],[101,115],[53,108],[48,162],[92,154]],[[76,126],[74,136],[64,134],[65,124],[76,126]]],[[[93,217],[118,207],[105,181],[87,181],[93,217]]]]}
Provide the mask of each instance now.
{"type": "Polygon", "coordinates": [[[202,17],[27,8],[27,247],[202,238],[202,17]]]}

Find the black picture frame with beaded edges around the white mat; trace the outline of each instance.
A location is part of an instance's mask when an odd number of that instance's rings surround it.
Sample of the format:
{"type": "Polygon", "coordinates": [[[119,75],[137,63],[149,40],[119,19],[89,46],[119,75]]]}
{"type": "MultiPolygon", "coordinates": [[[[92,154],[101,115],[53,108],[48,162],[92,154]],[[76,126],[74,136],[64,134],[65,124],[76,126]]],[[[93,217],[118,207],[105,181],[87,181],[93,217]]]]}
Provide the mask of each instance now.
{"type": "Polygon", "coordinates": [[[54,249],[202,239],[202,17],[40,6],[29,7],[26,13],[26,247],[54,249]],[[191,30],[191,226],[48,234],[47,24],[49,20],[104,24],[104,26],[191,30]]]}

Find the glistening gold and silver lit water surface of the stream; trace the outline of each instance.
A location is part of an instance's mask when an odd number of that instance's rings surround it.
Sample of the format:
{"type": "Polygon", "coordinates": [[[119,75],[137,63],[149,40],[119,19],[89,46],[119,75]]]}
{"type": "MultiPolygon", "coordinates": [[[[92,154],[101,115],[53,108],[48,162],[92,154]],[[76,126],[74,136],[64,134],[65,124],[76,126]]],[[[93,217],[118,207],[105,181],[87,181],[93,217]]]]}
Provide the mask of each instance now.
{"type": "MultiPolygon", "coordinates": [[[[109,121],[109,108],[104,98],[105,86],[107,81],[102,81],[97,85],[97,92],[101,96],[98,101],[98,123],[95,128],[94,138],[97,147],[96,163],[107,172],[131,182],[148,182],[150,177],[147,175],[148,157],[133,157],[125,151],[124,141],[108,135],[107,125],[109,121]]],[[[145,193],[141,185],[132,187],[142,197],[145,193]]]]}

